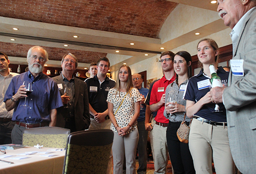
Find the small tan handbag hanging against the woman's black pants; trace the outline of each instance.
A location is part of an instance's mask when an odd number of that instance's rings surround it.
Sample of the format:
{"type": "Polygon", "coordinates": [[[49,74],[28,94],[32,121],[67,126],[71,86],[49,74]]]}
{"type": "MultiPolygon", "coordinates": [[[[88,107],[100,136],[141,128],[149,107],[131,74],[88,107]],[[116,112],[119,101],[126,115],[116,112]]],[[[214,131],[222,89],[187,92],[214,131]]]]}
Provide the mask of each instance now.
{"type": "Polygon", "coordinates": [[[186,125],[185,118],[186,118],[186,113],[184,115],[184,119],[180,124],[180,127],[177,130],[177,137],[182,143],[188,143],[188,135],[189,135],[190,125],[192,121],[192,118],[191,118],[189,125],[186,125]]]}

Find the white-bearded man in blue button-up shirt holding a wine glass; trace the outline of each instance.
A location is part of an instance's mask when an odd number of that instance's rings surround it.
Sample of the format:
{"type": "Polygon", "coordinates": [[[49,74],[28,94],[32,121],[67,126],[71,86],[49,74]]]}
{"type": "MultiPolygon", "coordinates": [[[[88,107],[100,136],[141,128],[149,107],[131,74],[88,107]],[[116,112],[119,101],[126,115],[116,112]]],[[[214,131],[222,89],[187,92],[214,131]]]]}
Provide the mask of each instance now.
{"type": "Polygon", "coordinates": [[[55,126],[56,108],[63,106],[57,83],[42,73],[48,61],[47,51],[34,46],[28,51],[27,61],[29,71],[12,78],[4,98],[7,111],[14,108],[12,121],[16,124],[11,135],[14,144],[22,144],[26,128],[55,126]],[[26,92],[25,81],[32,85],[31,94],[26,92]]]}

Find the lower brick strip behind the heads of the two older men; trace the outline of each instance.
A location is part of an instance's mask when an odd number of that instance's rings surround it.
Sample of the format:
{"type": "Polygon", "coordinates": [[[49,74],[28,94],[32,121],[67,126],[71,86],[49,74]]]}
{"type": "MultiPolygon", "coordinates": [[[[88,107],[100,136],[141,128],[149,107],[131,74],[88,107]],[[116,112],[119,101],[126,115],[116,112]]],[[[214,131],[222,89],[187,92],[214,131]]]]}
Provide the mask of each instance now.
{"type": "MultiPolygon", "coordinates": [[[[8,56],[27,57],[28,50],[33,45],[13,44],[9,42],[0,42],[0,51],[6,53],[8,56]]],[[[72,53],[80,63],[91,63],[97,61],[101,57],[105,57],[106,53],[81,51],[72,49],[61,49],[54,47],[43,47],[49,54],[49,60],[61,60],[65,54],[72,53]]]]}

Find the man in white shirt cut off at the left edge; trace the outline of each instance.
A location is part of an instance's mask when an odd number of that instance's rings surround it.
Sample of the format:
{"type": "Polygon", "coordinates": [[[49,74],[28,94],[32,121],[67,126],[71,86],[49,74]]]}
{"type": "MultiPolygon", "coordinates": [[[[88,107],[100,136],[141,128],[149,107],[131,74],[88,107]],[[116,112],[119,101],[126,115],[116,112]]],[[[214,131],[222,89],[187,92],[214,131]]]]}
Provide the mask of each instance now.
{"type": "Polygon", "coordinates": [[[2,89],[2,95],[0,96],[0,144],[12,143],[11,133],[15,125],[15,122],[12,121],[13,110],[8,112],[4,103],[5,93],[11,79],[18,75],[17,73],[9,72],[9,64],[8,56],[0,52],[0,89],[2,89]]]}

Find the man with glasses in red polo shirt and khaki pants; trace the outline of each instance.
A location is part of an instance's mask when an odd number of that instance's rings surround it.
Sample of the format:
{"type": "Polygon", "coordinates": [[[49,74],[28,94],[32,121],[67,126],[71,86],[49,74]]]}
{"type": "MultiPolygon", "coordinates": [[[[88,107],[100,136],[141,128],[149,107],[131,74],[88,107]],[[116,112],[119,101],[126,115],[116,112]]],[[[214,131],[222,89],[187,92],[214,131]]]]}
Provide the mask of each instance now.
{"type": "Polygon", "coordinates": [[[166,129],[169,120],[164,117],[163,111],[166,87],[176,79],[173,67],[174,55],[175,54],[172,51],[165,51],[161,54],[159,61],[161,62],[164,76],[155,82],[151,92],[150,110],[152,112],[157,112],[154,121],[155,124],[152,129],[154,141],[154,173],[166,173],[168,156],[166,129]]]}

